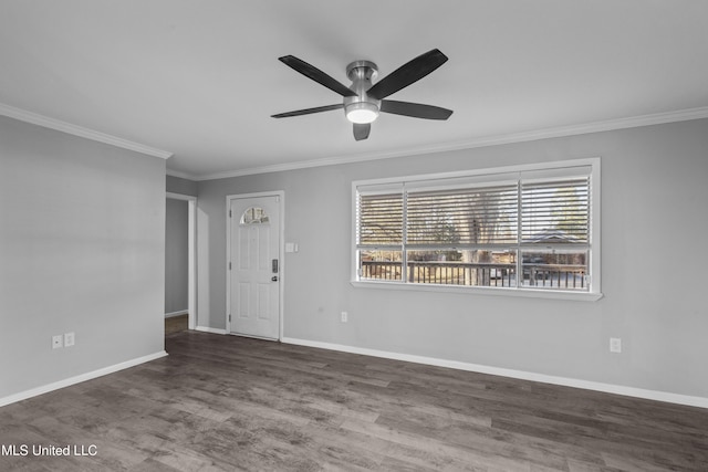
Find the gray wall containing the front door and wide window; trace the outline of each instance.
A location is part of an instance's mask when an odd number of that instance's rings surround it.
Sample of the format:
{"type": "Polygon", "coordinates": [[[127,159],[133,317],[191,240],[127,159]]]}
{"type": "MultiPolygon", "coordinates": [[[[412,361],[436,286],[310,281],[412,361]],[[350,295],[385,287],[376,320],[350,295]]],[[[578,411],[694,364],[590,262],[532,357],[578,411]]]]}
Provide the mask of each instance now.
{"type": "Polygon", "coordinates": [[[225,328],[225,197],[285,191],[284,336],[708,397],[708,120],[199,182],[199,306],[225,328]],[[597,302],[353,287],[352,180],[602,157],[597,302]],[[342,324],[340,312],[350,321],[342,324]],[[621,337],[624,352],[608,352],[621,337]]]}

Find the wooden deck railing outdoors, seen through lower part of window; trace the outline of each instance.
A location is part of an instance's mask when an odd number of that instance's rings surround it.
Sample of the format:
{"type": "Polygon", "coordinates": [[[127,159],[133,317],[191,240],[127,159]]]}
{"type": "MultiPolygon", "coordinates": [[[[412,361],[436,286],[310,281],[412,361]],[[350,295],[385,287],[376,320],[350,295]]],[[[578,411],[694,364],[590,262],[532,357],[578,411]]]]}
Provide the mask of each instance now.
{"type": "MultiPolygon", "coordinates": [[[[360,280],[402,281],[403,265],[391,261],[362,261],[360,280]]],[[[565,290],[586,290],[585,265],[522,264],[521,285],[565,290]]],[[[470,262],[408,262],[406,280],[409,283],[517,286],[517,264],[470,262]]]]}

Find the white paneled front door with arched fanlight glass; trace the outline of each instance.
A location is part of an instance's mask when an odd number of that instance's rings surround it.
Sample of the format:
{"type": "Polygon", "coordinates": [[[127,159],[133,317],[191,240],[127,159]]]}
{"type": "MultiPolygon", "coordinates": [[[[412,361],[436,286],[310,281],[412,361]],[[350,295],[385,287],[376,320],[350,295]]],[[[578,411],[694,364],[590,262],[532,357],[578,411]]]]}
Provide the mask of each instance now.
{"type": "Polygon", "coordinates": [[[280,196],[230,198],[229,331],[280,338],[280,196]]]}

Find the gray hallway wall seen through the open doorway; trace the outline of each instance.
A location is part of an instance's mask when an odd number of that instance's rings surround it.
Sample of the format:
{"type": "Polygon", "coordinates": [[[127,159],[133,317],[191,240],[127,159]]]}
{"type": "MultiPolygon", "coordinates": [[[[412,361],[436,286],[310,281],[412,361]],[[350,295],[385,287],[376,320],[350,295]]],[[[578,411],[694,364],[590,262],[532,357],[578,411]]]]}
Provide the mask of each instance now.
{"type": "Polygon", "coordinates": [[[167,199],[165,213],[165,314],[188,308],[188,202],[167,199]]]}

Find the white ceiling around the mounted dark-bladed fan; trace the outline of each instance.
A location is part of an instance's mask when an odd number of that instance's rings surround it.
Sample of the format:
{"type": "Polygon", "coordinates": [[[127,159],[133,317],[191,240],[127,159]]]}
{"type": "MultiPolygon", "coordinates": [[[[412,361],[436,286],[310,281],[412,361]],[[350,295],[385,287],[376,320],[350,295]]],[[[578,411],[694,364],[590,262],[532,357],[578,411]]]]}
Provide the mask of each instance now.
{"type": "Polygon", "coordinates": [[[1,104],[174,153],[170,174],[199,179],[702,113],[708,1],[1,0],[0,71],[1,104]],[[391,98],[447,122],[382,115],[355,141],[339,111],[270,117],[341,102],[281,55],[348,84],[352,61],[383,77],[434,48],[449,61],[391,98]]]}

